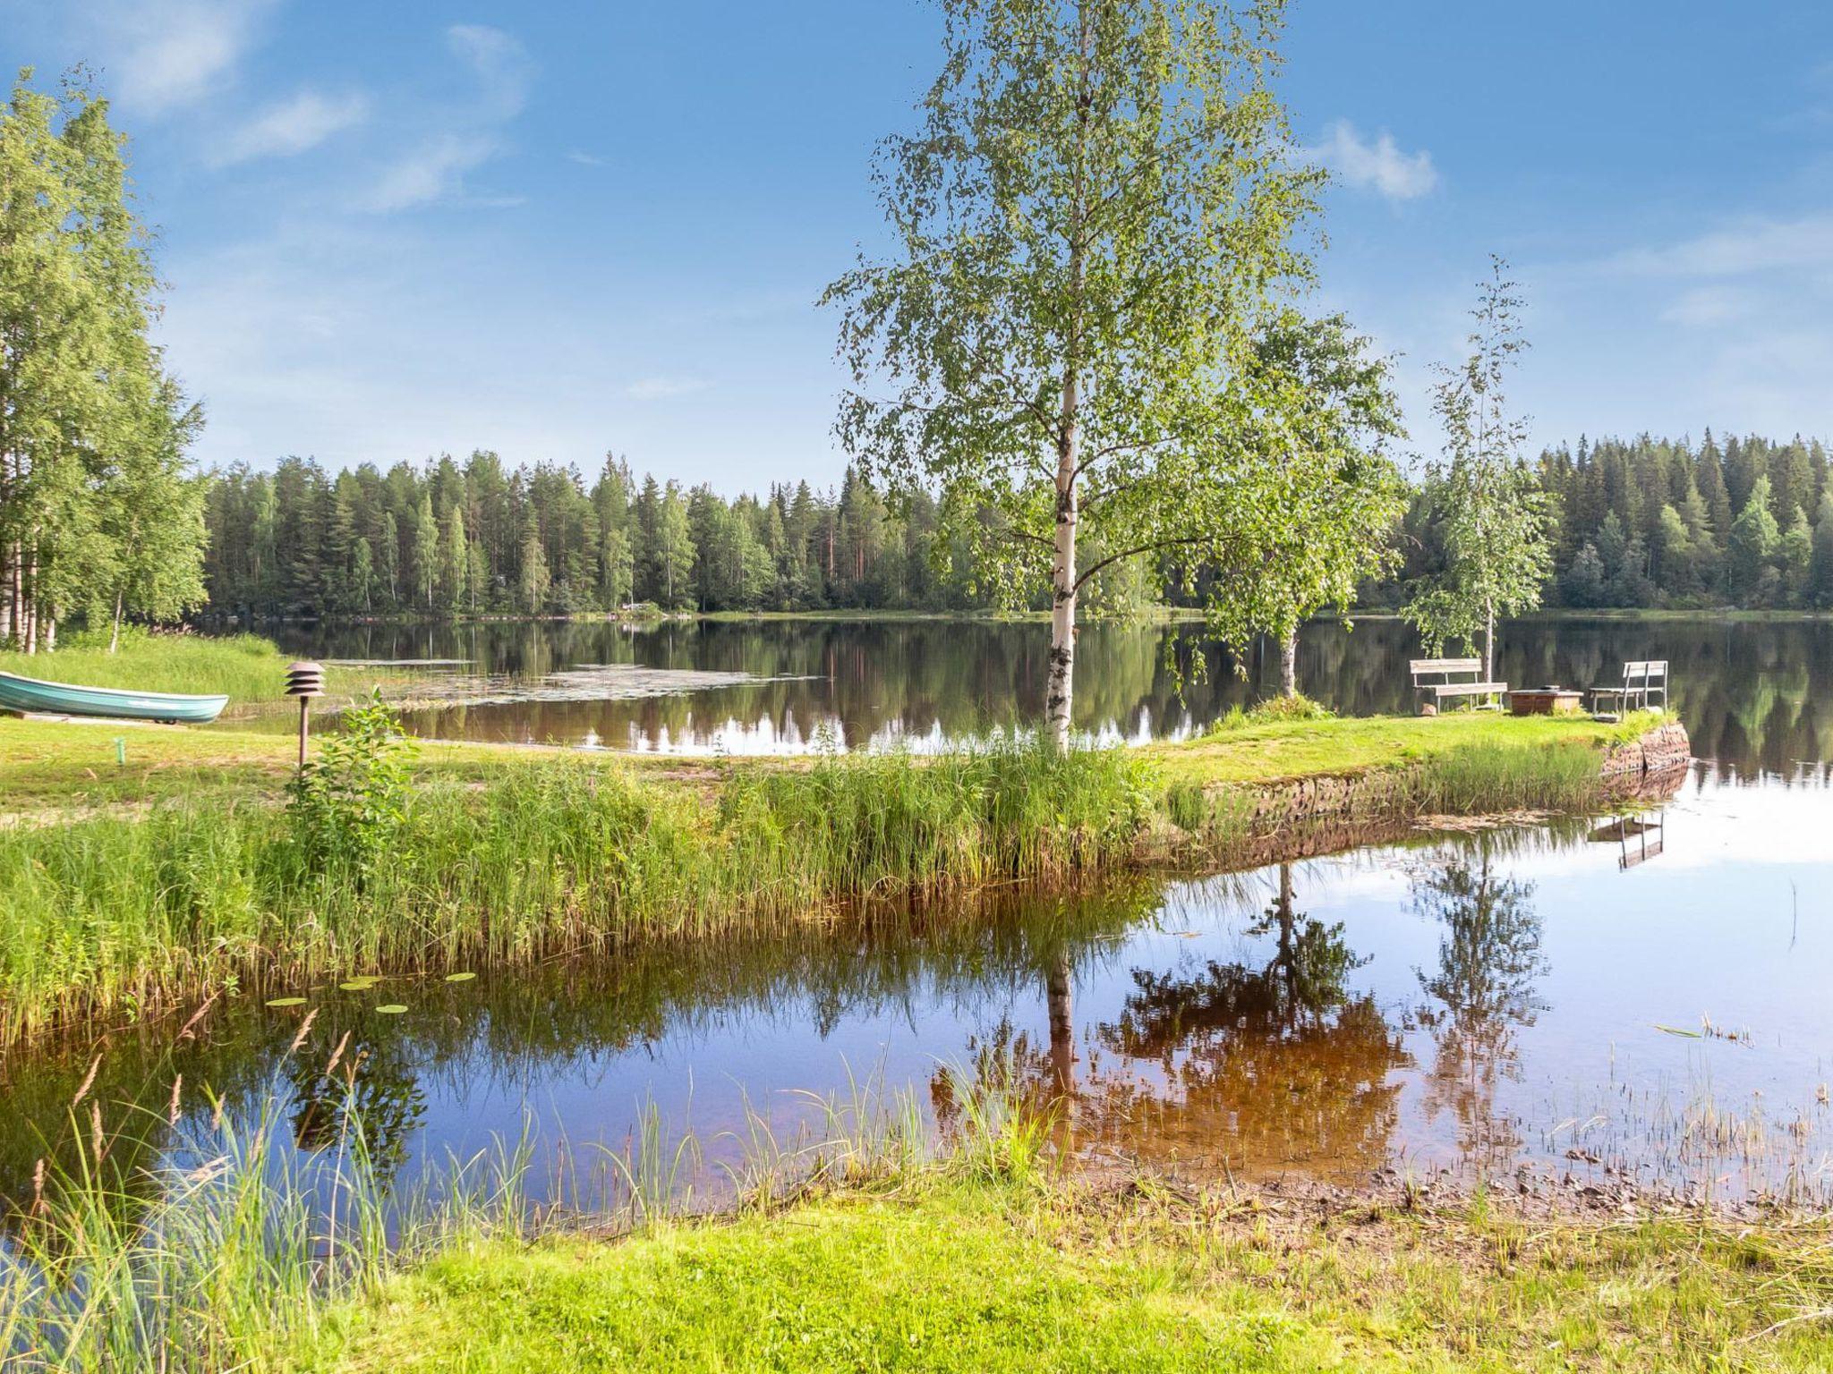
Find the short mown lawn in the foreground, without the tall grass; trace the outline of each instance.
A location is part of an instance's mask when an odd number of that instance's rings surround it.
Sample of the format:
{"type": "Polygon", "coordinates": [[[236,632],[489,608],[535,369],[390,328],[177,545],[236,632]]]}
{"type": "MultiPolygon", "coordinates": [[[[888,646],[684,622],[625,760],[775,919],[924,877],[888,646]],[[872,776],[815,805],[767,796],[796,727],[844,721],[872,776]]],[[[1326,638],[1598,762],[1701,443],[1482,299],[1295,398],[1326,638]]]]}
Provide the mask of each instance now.
{"type": "Polygon", "coordinates": [[[337,1370],[1826,1370],[1826,1224],[1228,1218],[906,1185],[477,1244],[334,1314],[337,1370]],[[1807,1315],[1818,1312],[1818,1317],[1807,1315]],[[559,1361],[559,1363],[557,1363],[559,1361]]]}

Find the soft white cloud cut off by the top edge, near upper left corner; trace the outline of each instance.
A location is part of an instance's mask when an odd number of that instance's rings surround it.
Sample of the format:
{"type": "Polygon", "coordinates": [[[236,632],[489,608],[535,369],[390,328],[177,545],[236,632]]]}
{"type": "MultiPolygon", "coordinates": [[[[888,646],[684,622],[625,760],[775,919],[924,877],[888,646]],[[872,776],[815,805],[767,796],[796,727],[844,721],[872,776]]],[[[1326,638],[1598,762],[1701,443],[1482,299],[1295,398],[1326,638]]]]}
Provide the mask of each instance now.
{"type": "Polygon", "coordinates": [[[271,0],[143,0],[95,16],[114,95],[161,114],[224,90],[271,0]]]}

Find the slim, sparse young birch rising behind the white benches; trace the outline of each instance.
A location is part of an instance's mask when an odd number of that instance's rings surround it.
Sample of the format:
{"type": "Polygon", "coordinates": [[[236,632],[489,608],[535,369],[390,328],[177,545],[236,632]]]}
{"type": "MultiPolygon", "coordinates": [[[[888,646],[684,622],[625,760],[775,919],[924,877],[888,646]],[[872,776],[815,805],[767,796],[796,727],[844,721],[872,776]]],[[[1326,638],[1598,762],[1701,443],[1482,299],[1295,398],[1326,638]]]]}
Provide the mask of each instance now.
{"type": "Polygon", "coordinates": [[[1521,456],[1527,421],[1503,390],[1521,337],[1520,288],[1490,260],[1472,310],[1470,357],[1439,366],[1432,409],[1444,460],[1426,476],[1428,511],[1444,531],[1444,570],[1422,581],[1402,614],[1430,652],[1448,639],[1483,639],[1483,678],[1496,680],[1496,621],[1540,605],[1553,572],[1553,502],[1521,456]]]}

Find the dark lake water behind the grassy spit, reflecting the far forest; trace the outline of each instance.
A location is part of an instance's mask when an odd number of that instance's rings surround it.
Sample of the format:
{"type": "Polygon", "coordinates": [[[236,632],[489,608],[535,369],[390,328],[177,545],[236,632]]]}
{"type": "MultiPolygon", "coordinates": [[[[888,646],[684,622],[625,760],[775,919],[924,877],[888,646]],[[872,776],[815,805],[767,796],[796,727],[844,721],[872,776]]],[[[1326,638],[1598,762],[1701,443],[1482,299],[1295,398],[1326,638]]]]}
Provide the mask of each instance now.
{"type": "MultiPolygon", "coordinates": [[[[286,627],[290,650],[321,658],[451,658],[533,680],[579,665],[741,672],[741,685],[642,700],[521,702],[427,711],[438,738],[594,744],[678,753],[790,753],[938,746],[1041,714],[1048,632],[997,621],[605,621],[460,627],[286,627]]],[[[1345,714],[1410,711],[1404,625],[1305,627],[1305,689],[1345,714]]],[[[1833,623],[1718,617],[1529,619],[1501,639],[1518,685],[1619,682],[1624,660],[1664,658],[1674,705],[1701,758],[1729,777],[1796,777],[1833,757],[1833,623]]],[[[1190,625],[1089,625],[1076,652],[1076,724],[1111,740],[1177,738],[1276,689],[1274,656],[1246,676],[1190,625]],[[1182,691],[1180,691],[1182,689],[1182,691]]],[[[275,722],[275,727],[284,722],[275,722]]],[[[1818,777],[1818,775],[1817,775],[1818,777]]]]}

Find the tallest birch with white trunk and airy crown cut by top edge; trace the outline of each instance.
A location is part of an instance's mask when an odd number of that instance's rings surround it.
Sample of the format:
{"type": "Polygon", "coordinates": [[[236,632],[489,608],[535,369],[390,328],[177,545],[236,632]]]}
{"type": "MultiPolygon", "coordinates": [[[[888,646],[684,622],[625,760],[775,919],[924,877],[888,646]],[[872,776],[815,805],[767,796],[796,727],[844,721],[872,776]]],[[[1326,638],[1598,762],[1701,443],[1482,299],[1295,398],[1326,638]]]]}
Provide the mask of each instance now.
{"type": "Polygon", "coordinates": [[[836,434],[876,482],[937,487],[990,579],[1048,579],[1063,747],[1089,579],[1270,517],[1217,436],[1261,399],[1257,321],[1309,278],[1320,174],[1272,88],[1283,0],[938,5],[922,126],[876,163],[895,253],[823,297],[836,434]]]}

